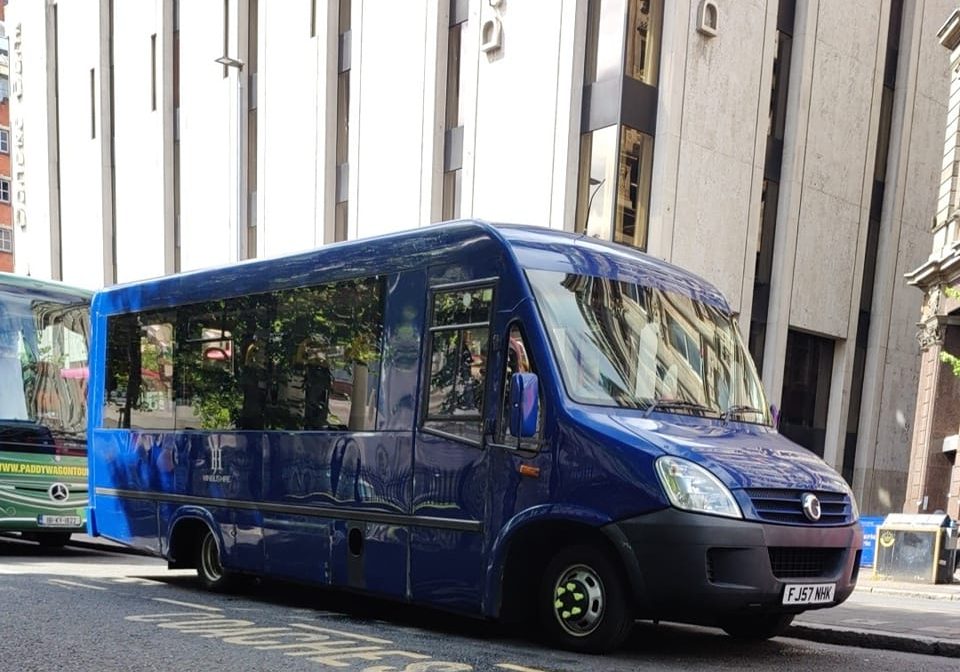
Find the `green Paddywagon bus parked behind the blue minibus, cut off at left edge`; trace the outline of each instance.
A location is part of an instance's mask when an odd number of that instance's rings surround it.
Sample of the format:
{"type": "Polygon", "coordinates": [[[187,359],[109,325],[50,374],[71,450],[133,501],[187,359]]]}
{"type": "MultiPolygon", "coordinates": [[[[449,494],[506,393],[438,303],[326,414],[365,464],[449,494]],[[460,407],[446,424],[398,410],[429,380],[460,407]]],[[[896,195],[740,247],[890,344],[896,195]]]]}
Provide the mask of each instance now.
{"type": "Polygon", "coordinates": [[[91,293],[0,273],[0,532],[86,530],[91,293]]]}

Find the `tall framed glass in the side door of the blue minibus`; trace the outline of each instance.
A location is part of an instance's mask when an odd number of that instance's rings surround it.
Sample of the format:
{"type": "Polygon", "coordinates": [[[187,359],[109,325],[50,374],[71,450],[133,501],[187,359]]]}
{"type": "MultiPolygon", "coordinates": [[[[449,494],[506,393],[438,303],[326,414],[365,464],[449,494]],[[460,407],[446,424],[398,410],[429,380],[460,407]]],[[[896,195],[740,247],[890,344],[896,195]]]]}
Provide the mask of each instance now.
{"type": "Polygon", "coordinates": [[[433,294],[424,427],[480,443],[492,287],[433,294]]]}

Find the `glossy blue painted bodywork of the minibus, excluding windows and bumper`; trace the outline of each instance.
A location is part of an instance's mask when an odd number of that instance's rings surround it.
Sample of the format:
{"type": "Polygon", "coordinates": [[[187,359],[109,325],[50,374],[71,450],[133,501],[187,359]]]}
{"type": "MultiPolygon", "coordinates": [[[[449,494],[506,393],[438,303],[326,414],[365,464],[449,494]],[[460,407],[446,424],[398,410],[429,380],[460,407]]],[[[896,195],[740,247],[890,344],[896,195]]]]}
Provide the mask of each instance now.
{"type": "MultiPolygon", "coordinates": [[[[525,267],[669,288],[728,311],[711,285],[641,253],[478,222],[106,289],[95,296],[92,315],[91,533],[169,555],[176,525],[202,520],[229,569],[496,615],[515,535],[544,521],[600,528],[668,508],[653,470],[660,455],[711,469],[748,519],[744,488],[843,489],[819,458],[767,427],[572,402],[549,356],[525,267]],[[108,316],[374,274],[386,277],[375,431],[102,427],[108,316]],[[474,445],[425,431],[419,421],[430,287],[491,278],[488,368],[502,370],[499,345],[516,321],[537,353],[544,435],[536,452],[474,445]],[[522,465],[537,476],[522,475],[522,465]],[[358,534],[360,554],[351,549],[358,534]]],[[[501,388],[488,375],[485,398],[502,398],[501,388]]],[[[497,406],[485,405],[487,431],[497,406]]]]}

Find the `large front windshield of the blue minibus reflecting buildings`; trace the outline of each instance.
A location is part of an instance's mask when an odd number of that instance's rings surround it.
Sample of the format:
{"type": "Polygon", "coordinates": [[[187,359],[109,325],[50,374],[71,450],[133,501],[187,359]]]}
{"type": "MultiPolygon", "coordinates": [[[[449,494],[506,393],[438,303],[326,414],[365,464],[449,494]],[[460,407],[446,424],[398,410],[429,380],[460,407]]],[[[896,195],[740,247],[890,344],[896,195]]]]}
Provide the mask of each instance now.
{"type": "Polygon", "coordinates": [[[722,310],[610,278],[526,274],[575,401],[770,424],[753,362],[722,310]]]}

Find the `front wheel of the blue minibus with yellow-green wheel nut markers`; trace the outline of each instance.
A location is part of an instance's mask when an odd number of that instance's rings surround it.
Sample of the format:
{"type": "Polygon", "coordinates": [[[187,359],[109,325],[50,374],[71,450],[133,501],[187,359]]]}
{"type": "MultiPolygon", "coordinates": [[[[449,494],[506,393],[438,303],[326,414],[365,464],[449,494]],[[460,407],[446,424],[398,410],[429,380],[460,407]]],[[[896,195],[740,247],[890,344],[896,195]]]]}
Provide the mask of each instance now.
{"type": "Polygon", "coordinates": [[[620,566],[593,546],[562,549],[547,565],[537,598],[540,624],[555,646],[602,653],[633,627],[629,587],[620,566]]]}

